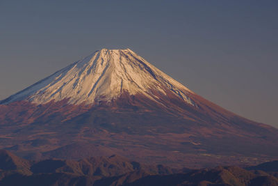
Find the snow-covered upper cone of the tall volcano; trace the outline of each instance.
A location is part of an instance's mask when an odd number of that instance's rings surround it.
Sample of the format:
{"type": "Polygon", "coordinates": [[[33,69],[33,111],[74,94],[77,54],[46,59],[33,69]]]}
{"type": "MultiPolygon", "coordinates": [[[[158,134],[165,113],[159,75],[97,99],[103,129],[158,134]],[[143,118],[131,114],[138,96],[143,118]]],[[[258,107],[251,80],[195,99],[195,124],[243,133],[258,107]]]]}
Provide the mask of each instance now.
{"type": "Polygon", "coordinates": [[[0,103],[28,100],[44,104],[51,100],[68,99],[70,104],[90,104],[100,100],[109,102],[124,91],[156,100],[152,90],[164,95],[171,91],[181,100],[195,105],[188,97],[192,91],[131,49],[98,50],[0,103]]]}

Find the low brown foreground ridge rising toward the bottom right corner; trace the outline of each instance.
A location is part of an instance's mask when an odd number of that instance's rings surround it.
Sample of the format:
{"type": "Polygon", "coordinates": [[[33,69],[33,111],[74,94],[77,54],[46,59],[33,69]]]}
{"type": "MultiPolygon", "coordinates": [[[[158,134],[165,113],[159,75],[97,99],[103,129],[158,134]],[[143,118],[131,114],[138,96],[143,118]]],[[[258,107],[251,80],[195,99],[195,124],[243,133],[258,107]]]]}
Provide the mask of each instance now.
{"type": "Polygon", "coordinates": [[[223,185],[223,186],[255,186],[255,185],[278,185],[278,180],[272,176],[256,176],[250,171],[239,167],[218,166],[214,169],[201,169],[186,174],[172,174],[167,176],[146,176],[135,180],[133,183],[126,183],[125,186],[151,186],[151,185],[223,185]]]}

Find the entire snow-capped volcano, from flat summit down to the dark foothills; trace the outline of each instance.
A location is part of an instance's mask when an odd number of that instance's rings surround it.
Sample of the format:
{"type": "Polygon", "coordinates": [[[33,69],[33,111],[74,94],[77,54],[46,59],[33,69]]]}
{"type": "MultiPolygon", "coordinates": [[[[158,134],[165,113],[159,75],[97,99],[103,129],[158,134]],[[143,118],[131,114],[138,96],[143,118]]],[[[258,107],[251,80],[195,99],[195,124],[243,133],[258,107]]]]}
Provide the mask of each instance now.
{"type": "Polygon", "coordinates": [[[131,49],[101,49],[2,100],[0,128],[0,148],[33,160],[118,154],[201,168],[278,157],[276,128],[205,100],[131,49]]]}

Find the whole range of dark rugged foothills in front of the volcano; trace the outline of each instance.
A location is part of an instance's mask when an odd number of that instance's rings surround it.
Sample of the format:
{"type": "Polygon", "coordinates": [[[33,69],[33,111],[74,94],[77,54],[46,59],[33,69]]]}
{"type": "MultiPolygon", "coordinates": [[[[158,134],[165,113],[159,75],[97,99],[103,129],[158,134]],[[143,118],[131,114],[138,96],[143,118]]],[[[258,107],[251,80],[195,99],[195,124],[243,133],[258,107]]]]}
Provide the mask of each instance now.
{"type": "MultiPolygon", "coordinates": [[[[0,153],[0,164],[6,155],[23,160],[7,150],[1,152],[5,153],[0,153]]],[[[272,163],[267,162],[274,167],[272,163]]],[[[90,157],[79,161],[49,159],[28,162],[28,165],[28,173],[19,171],[19,166],[0,170],[0,185],[278,185],[277,174],[276,177],[271,176],[267,171],[259,169],[252,172],[237,166],[217,166],[184,171],[163,165],[141,164],[118,155],[90,157]]]]}

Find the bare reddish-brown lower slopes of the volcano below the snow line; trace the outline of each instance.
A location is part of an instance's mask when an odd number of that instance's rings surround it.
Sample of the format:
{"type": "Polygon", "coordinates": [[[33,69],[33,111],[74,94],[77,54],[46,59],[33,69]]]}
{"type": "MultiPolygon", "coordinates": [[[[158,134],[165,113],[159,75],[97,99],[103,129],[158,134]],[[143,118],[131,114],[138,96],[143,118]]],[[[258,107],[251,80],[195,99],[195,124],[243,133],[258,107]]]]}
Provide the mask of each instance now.
{"type": "MultiPolygon", "coordinates": [[[[98,105],[0,105],[0,147],[33,160],[118,154],[177,168],[275,160],[277,130],[210,104],[152,104],[143,96],[98,105]],[[218,112],[215,110],[218,109],[218,112]],[[275,142],[276,141],[276,142],[275,142]]],[[[202,98],[199,98],[202,99],[202,98]]],[[[197,99],[195,99],[197,100],[197,99]]]]}

